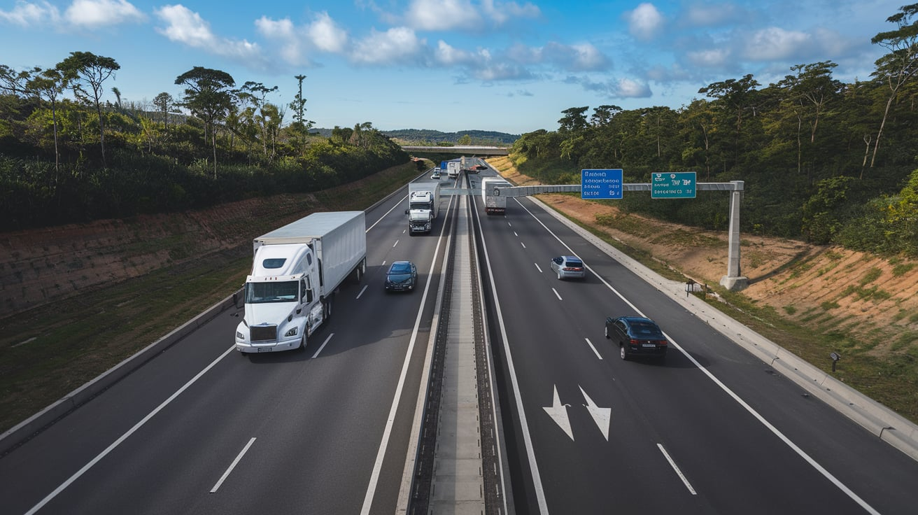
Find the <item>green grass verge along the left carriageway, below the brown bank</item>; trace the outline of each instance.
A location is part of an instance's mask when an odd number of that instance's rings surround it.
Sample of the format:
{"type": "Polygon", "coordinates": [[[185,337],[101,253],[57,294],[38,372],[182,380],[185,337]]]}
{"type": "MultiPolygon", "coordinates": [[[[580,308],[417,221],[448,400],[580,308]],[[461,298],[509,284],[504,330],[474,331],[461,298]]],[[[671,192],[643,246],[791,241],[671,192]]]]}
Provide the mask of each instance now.
{"type": "MultiPolygon", "coordinates": [[[[263,233],[312,210],[364,209],[418,175],[413,163],[315,195],[278,196],[252,217],[222,220],[225,234],[263,233]]],[[[128,223],[133,223],[131,220],[128,223]]],[[[168,220],[163,224],[169,226],[168,220]]],[[[126,241],[130,255],[145,249],[197,255],[196,234],[126,241]]],[[[207,253],[166,268],[0,319],[0,431],[84,385],[185,323],[245,281],[252,244],[207,253]]]]}

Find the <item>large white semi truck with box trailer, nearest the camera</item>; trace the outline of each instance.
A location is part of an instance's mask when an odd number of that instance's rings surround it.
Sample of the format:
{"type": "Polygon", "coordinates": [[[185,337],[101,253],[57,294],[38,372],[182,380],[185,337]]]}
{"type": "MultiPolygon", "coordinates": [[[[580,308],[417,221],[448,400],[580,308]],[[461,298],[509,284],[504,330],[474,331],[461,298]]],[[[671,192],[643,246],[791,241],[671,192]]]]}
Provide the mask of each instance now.
{"type": "Polygon", "coordinates": [[[335,291],[366,272],[364,211],[313,213],[255,238],[236,350],[305,349],[330,319],[335,291]]]}

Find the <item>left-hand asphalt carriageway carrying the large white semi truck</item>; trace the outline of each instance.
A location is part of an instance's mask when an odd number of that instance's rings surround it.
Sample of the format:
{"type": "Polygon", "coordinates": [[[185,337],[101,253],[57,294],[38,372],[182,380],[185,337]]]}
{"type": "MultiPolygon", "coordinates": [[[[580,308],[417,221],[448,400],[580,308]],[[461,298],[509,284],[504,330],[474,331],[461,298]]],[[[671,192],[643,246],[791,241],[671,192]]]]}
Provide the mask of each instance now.
{"type": "Polygon", "coordinates": [[[393,513],[449,220],[409,237],[406,207],[367,213],[367,273],[305,353],[232,351],[225,311],[0,459],[0,512],[393,513]],[[418,286],[386,294],[400,259],[418,286]]]}

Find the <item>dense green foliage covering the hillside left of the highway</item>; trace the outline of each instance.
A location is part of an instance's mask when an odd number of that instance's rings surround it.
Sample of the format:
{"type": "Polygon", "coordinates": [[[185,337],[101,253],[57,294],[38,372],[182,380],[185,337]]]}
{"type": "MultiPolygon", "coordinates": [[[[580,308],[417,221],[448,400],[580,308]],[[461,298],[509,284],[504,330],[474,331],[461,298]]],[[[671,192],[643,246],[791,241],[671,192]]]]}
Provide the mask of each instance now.
{"type": "MultiPolygon", "coordinates": [[[[15,98],[0,98],[17,105],[15,98]]],[[[103,165],[97,118],[87,116],[86,106],[59,102],[56,164],[49,105],[28,98],[18,106],[24,129],[12,144],[0,146],[0,230],[312,192],[408,162],[397,144],[369,124],[360,126],[354,142],[279,131],[274,153],[265,154],[268,141],[261,131],[254,133],[257,140],[241,145],[239,134],[226,129],[212,140],[211,129],[198,118],[170,119],[166,126],[162,113],[109,107],[103,111],[108,148],[103,165]],[[223,156],[219,163],[213,161],[215,140],[223,156]]]]}

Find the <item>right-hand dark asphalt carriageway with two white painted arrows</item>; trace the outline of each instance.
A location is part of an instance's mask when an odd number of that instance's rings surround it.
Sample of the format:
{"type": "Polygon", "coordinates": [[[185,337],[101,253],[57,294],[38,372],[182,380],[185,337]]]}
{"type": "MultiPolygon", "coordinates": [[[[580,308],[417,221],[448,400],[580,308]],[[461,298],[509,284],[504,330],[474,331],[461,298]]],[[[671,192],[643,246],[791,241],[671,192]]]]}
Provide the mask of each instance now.
{"type": "MultiPolygon", "coordinates": [[[[469,176],[473,185],[479,180],[469,176]]],[[[918,465],[774,373],[527,198],[473,213],[518,513],[913,513],[918,465]],[[559,281],[576,254],[584,281],[559,281]],[[608,316],[659,322],[623,362],[608,316]],[[513,372],[509,372],[512,370],[513,372]]]]}

